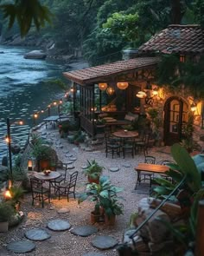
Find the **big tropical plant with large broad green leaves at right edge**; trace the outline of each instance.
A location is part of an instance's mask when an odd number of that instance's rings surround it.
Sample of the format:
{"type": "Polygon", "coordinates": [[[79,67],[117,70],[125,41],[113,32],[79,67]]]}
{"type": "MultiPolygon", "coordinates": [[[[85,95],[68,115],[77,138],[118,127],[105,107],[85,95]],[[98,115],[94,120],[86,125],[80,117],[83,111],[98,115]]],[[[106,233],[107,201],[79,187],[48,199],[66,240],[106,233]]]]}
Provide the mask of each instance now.
{"type": "Polygon", "coordinates": [[[166,198],[175,189],[175,186],[182,181],[183,177],[185,177],[182,186],[179,187],[174,197],[171,197],[170,200],[180,202],[186,221],[177,227],[168,223],[165,224],[174,234],[175,240],[187,250],[189,243],[192,244],[195,240],[198,204],[199,200],[204,198],[204,188],[201,183],[201,174],[187,150],[176,143],[171,148],[171,154],[175,160],[175,164],[169,164],[169,171],[166,174],[172,177],[173,183],[162,178],[157,178],[156,182],[160,186],[156,187],[154,191],[156,192],[156,196],[166,198]]]}

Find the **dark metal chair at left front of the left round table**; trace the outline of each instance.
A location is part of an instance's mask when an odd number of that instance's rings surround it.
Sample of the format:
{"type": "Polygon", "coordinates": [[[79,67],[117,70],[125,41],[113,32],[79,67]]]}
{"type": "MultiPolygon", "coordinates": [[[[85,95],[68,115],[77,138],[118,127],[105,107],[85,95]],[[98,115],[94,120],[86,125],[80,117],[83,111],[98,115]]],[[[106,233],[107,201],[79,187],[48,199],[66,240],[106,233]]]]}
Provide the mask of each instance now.
{"type": "Polygon", "coordinates": [[[41,201],[41,207],[44,207],[44,201],[48,200],[50,203],[50,187],[43,187],[44,181],[40,181],[35,178],[30,179],[30,187],[32,194],[32,206],[34,206],[34,200],[41,201]]]}

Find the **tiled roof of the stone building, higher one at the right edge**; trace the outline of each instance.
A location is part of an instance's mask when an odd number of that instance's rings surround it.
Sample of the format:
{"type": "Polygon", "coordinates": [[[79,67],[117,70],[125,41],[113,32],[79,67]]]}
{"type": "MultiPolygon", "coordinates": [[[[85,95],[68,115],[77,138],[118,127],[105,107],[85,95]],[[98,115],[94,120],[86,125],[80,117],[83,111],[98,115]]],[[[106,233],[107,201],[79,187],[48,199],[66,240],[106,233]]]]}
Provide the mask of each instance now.
{"type": "Polygon", "coordinates": [[[140,52],[194,55],[204,53],[204,30],[199,25],[169,25],[139,48],[140,52]]]}

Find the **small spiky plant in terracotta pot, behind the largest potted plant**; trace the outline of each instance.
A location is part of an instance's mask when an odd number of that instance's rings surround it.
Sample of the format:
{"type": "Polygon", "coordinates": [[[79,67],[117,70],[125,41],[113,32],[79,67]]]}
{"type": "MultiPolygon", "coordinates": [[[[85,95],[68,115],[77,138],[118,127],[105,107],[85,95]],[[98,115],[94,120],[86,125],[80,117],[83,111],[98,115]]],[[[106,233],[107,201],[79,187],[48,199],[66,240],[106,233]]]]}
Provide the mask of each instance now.
{"type": "Polygon", "coordinates": [[[88,161],[87,167],[84,169],[83,173],[87,176],[88,182],[95,182],[99,184],[99,176],[105,167],[99,166],[99,163],[95,160],[88,161]]]}

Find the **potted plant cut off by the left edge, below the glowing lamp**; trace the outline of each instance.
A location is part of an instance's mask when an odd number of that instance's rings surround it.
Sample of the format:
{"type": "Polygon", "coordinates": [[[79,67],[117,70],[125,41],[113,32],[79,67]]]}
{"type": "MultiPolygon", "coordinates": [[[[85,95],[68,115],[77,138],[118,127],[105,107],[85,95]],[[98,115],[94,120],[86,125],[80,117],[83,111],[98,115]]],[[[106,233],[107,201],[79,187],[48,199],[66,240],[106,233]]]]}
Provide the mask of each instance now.
{"type": "Polygon", "coordinates": [[[9,220],[15,212],[8,201],[0,202],[0,233],[7,232],[9,229],[9,220]]]}

